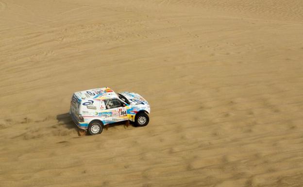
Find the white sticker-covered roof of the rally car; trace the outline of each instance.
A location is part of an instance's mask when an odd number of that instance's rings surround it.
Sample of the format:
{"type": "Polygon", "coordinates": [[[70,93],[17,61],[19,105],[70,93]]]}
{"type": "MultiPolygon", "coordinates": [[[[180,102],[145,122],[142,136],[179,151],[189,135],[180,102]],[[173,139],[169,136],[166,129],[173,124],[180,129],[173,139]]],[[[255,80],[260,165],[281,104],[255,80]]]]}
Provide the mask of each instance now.
{"type": "Polygon", "coordinates": [[[109,87],[94,88],[74,93],[81,100],[106,100],[118,98],[118,95],[109,87]]]}

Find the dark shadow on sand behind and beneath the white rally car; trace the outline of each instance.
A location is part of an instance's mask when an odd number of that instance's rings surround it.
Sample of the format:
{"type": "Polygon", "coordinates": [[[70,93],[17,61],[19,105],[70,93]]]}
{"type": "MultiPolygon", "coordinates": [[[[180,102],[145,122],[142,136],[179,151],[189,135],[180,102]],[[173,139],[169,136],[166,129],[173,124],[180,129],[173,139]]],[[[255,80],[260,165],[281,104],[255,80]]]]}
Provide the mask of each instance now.
{"type": "MultiPolygon", "coordinates": [[[[58,123],[61,125],[65,125],[67,129],[75,129],[79,136],[89,135],[84,130],[78,128],[78,126],[74,123],[74,121],[71,119],[69,113],[64,114],[58,114],[57,115],[58,123]]],[[[128,126],[134,126],[134,123],[131,121],[120,121],[112,124],[108,124],[104,126],[104,130],[107,130],[112,127],[116,127],[118,125],[124,125],[124,128],[127,128],[128,126]]]]}

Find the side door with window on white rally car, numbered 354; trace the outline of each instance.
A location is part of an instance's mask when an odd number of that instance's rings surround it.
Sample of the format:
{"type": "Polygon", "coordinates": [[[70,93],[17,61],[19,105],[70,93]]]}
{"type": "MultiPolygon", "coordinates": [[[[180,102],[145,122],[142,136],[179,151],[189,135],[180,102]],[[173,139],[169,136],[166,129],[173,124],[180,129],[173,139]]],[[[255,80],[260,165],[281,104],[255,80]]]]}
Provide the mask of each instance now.
{"type": "Polygon", "coordinates": [[[111,118],[107,119],[108,123],[122,121],[127,119],[127,112],[124,103],[118,99],[104,100],[106,110],[111,112],[111,118]]]}

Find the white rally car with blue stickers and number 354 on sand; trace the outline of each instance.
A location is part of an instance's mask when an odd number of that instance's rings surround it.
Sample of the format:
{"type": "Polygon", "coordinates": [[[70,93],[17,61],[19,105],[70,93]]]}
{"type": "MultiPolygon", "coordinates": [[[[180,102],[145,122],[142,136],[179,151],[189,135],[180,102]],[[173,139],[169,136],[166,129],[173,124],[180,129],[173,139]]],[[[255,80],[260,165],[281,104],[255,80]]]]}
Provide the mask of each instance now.
{"type": "Polygon", "coordinates": [[[130,120],[136,126],[145,126],[150,111],[149,103],[139,94],[117,94],[103,87],[74,93],[69,114],[79,128],[96,135],[102,132],[104,125],[118,121],[130,120]]]}

